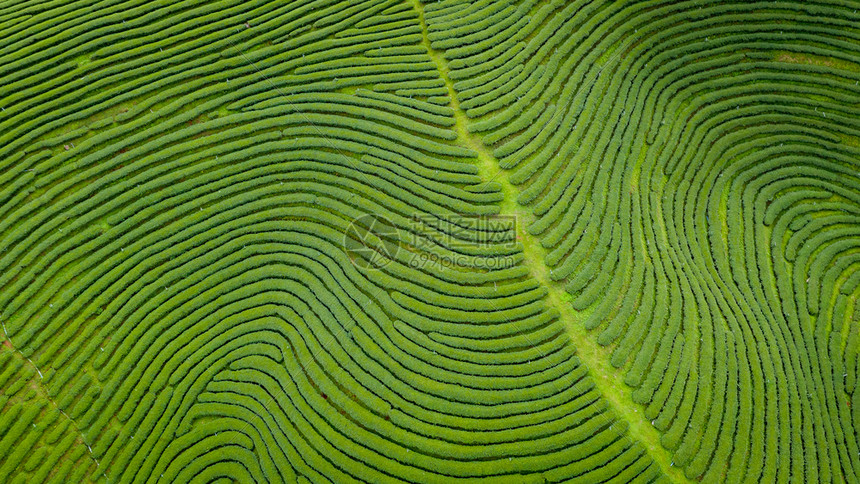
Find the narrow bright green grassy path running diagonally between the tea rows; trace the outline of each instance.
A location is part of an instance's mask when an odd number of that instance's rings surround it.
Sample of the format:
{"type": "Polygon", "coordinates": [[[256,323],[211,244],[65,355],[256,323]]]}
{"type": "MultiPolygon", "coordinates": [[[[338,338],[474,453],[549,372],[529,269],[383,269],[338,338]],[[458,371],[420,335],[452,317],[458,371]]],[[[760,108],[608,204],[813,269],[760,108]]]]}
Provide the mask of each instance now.
{"type": "Polygon", "coordinates": [[[537,237],[525,230],[534,220],[534,215],[517,204],[517,188],[508,180],[507,172],[499,168],[499,162],[493,157],[492,150],[484,145],[479,136],[469,132],[467,128],[469,118],[460,108],[454,83],[449,76],[448,61],[440,52],[430,47],[430,41],[427,37],[427,23],[424,19],[424,5],[419,0],[410,1],[418,11],[418,18],[421,22],[421,43],[427,48],[430,58],[436,64],[442,79],[445,81],[445,86],[448,88],[451,108],[454,110],[454,120],[456,121],[457,142],[477,153],[478,170],[481,178],[486,180],[485,183],[495,182],[501,186],[504,199],[499,203],[500,213],[517,217],[517,235],[523,244],[524,263],[529,268],[532,277],[547,288],[547,304],[558,310],[561,320],[567,328],[567,333],[576,346],[577,355],[585,363],[595,385],[609,401],[616,414],[630,424],[628,432],[631,437],[645,446],[648,454],[672,482],[691,482],[684,476],[680,468],[672,465],[672,455],[660,445],[660,434],[657,429],[645,418],[644,409],[631,399],[630,388],[624,384],[624,370],[614,368],[609,363],[612,356],[610,348],[597,344],[582,326],[581,322],[586,314],[574,310],[570,305],[568,302],[570,296],[564,289],[564,281],[550,279],[549,270],[544,264],[546,249],[541,246],[537,237]]]}

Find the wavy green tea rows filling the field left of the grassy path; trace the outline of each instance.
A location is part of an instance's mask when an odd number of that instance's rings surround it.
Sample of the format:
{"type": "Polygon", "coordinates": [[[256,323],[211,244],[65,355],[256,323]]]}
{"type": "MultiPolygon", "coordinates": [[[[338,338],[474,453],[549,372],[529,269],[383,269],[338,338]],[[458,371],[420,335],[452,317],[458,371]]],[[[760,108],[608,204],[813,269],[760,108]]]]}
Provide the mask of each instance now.
{"type": "Polygon", "coordinates": [[[0,476],[661,480],[513,227],[463,222],[502,195],[424,35],[392,0],[0,4],[0,476]]]}

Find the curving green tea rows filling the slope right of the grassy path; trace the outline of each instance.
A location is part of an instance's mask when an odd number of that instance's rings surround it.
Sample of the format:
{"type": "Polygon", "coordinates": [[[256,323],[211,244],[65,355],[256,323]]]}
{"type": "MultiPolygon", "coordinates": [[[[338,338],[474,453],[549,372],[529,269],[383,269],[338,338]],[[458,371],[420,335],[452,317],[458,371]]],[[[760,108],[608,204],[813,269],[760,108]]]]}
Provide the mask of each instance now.
{"type": "Polygon", "coordinates": [[[688,478],[860,476],[858,7],[427,8],[552,278],[688,478]]]}

